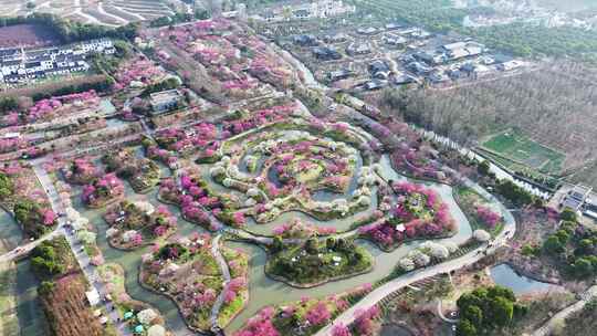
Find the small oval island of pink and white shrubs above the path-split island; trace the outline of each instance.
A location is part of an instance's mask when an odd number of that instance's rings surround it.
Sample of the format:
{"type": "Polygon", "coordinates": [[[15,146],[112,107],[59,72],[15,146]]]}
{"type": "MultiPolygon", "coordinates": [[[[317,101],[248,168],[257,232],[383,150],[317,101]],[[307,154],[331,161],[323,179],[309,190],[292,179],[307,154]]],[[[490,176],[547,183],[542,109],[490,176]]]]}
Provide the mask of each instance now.
{"type": "Polygon", "coordinates": [[[165,240],[176,232],[176,217],[164,206],[154,209],[151,203],[122,201],[104,216],[109,224],[106,231],[111,245],[134,250],[165,240]]]}

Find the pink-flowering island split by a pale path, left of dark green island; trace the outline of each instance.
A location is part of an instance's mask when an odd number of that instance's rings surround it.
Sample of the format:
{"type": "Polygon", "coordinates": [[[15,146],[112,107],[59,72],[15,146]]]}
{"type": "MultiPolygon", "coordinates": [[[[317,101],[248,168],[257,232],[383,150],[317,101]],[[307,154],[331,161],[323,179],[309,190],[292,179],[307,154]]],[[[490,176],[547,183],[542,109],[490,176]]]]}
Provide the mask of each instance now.
{"type": "Polygon", "coordinates": [[[191,329],[207,332],[212,326],[211,308],[222,291],[226,292],[220,323],[227,324],[248,300],[247,256],[233,254],[238,252],[228,253],[240,256],[237,273],[232,273],[238,276],[228,285],[223,283],[218,263],[211,255],[208,234],[195,234],[190,239],[181,238],[156,246],[143,256],[139,280],[148,288],[169,296],[191,329]]]}

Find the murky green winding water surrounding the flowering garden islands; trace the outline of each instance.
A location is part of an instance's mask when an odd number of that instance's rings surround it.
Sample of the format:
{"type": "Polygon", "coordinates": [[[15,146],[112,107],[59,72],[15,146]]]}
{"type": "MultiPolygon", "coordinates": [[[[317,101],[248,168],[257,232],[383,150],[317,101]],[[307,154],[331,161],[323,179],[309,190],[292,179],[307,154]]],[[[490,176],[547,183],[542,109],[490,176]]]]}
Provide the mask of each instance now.
{"type": "MultiPolygon", "coordinates": [[[[137,155],[142,155],[140,150],[137,153],[137,155]]],[[[391,167],[389,167],[388,158],[385,157],[383,159],[383,170],[387,175],[391,175],[391,177],[395,180],[404,179],[404,177],[397,175],[391,167]]],[[[160,165],[161,166],[161,165],[160,165]]],[[[201,168],[208,168],[208,165],[201,165],[201,168]]],[[[208,171],[209,169],[202,169],[203,171],[208,171]]],[[[228,191],[229,189],[226,189],[221,185],[216,183],[211,177],[206,174],[205,176],[206,180],[209,182],[210,187],[213,187],[213,189],[218,191],[228,191]]],[[[125,182],[126,187],[126,198],[128,200],[135,201],[135,200],[146,200],[155,206],[160,204],[159,201],[156,198],[157,195],[157,188],[154,189],[148,195],[137,195],[134,192],[134,190],[130,188],[128,183],[125,182]]],[[[451,188],[443,186],[443,185],[437,185],[437,183],[429,183],[429,187],[437,190],[443,201],[446,201],[449,204],[449,208],[451,210],[452,216],[457,220],[457,223],[459,225],[458,233],[454,237],[442,239],[439,241],[451,241],[457,244],[465,242],[472,234],[471,227],[460,210],[460,208],[457,206],[451,188]]],[[[127,292],[130,294],[133,298],[147,302],[155,307],[157,307],[166,317],[168,327],[170,327],[172,330],[175,330],[176,334],[187,334],[187,329],[185,327],[185,323],[181,318],[181,316],[178,314],[178,309],[176,308],[175,304],[166,298],[163,295],[149,292],[145,288],[143,288],[137,281],[138,277],[138,267],[140,264],[140,256],[144,253],[147,253],[148,249],[140,249],[134,252],[123,252],[117,251],[115,249],[112,249],[106,240],[105,231],[107,229],[107,224],[102,219],[102,216],[105,210],[90,210],[85,209],[83,204],[81,203],[78,192],[81,188],[74,188],[76,190],[73,192],[73,204],[76,209],[81,211],[83,216],[85,216],[92,223],[95,224],[95,228],[97,229],[97,244],[102,252],[104,253],[104,256],[106,259],[106,262],[116,262],[121,264],[125,272],[126,272],[126,281],[125,285],[127,288],[127,292]]],[[[373,204],[370,209],[366,210],[373,211],[376,207],[376,198],[373,197],[373,204]]],[[[178,217],[178,234],[179,235],[188,235],[191,232],[205,232],[203,229],[200,227],[192,224],[190,222],[185,221],[180,217],[180,211],[177,207],[168,207],[170,211],[178,217]]],[[[363,213],[360,213],[363,214],[363,213]]],[[[301,218],[305,222],[313,222],[317,225],[327,225],[327,227],[335,227],[338,230],[347,230],[352,222],[354,222],[355,217],[348,217],[345,219],[338,219],[334,221],[317,221],[311,216],[298,212],[298,211],[290,211],[281,214],[279,218],[276,218],[273,222],[268,224],[256,224],[254,221],[249,219],[249,227],[248,229],[250,231],[258,231],[263,234],[270,234],[271,230],[282,223],[289,222],[292,219],[301,218]]],[[[264,265],[266,262],[266,254],[265,252],[255,245],[247,244],[247,243],[232,243],[227,242],[227,245],[231,248],[238,248],[243,251],[245,251],[250,255],[250,301],[245,309],[241,312],[241,314],[234,318],[231,324],[226,328],[226,332],[231,334],[232,332],[239,329],[244,322],[256,314],[261,308],[268,305],[276,305],[282,304],[284,302],[289,301],[297,301],[303,296],[326,296],[332,295],[335,293],[341,293],[344,291],[352,290],[354,287],[357,287],[359,285],[363,285],[365,283],[374,283],[385,276],[387,276],[396,266],[396,261],[400,258],[405,256],[410,250],[418,246],[422,241],[416,241],[410,242],[401,245],[400,248],[396,249],[391,253],[385,253],[380,251],[377,246],[374,244],[366,242],[366,241],[358,241],[359,244],[362,244],[365,249],[371,253],[371,255],[375,259],[375,266],[374,270],[367,274],[362,274],[358,276],[354,276],[347,280],[342,280],[328,284],[324,284],[314,288],[294,288],[291,287],[284,283],[273,281],[265,276],[264,274],[264,265]]]]}

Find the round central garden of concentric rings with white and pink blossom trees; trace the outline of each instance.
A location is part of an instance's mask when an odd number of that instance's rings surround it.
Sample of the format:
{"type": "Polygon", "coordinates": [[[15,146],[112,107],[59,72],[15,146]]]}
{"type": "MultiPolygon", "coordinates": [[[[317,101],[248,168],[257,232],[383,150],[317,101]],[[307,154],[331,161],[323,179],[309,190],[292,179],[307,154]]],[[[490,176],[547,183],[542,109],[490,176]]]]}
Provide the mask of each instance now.
{"type": "Polygon", "coordinates": [[[293,210],[332,220],[369,208],[373,139],[362,129],[324,123],[293,106],[241,113],[223,129],[233,136],[222,141],[210,175],[245,193],[245,214],[256,222],[293,210]],[[334,197],[320,201],[322,193],[334,197]]]}

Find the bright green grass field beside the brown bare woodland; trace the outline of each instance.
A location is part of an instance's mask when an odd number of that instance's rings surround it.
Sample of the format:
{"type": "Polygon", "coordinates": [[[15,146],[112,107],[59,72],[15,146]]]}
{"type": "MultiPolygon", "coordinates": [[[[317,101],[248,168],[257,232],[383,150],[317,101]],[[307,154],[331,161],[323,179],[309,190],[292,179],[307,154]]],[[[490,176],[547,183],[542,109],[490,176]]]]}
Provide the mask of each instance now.
{"type": "MultiPolygon", "coordinates": [[[[515,132],[504,130],[481,144],[481,148],[544,174],[559,174],[566,156],[515,132]]],[[[510,165],[509,165],[510,166],[510,165]]]]}

